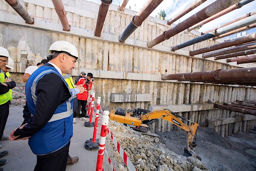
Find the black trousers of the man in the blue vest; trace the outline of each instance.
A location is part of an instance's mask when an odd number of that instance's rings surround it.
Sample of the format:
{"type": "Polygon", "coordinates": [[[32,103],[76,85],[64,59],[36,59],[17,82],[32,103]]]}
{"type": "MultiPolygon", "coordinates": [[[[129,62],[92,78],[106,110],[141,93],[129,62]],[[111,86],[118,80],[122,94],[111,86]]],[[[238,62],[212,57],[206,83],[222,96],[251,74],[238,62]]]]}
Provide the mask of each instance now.
{"type": "Polygon", "coordinates": [[[36,156],[36,166],[34,171],[65,171],[68,160],[70,142],[58,151],[51,154],[36,156]]]}

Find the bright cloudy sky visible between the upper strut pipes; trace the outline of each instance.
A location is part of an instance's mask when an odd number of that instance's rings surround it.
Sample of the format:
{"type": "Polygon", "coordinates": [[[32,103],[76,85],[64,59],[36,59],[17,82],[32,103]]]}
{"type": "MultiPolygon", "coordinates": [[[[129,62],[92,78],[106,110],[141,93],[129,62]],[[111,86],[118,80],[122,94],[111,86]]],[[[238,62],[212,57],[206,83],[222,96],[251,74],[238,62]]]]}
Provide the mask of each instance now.
{"type": "MultiPolygon", "coordinates": [[[[100,3],[100,0],[89,0],[92,2],[100,3]]],[[[126,8],[131,7],[131,10],[139,11],[143,5],[145,4],[147,0],[129,0],[126,8]]],[[[158,12],[162,9],[166,11],[166,20],[170,20],[172,17],[175,17],[178,13],[183,11],[185,8],[187,8],[190,4],[192,4],[195,0],[163,0],[161,4],[150,14],[152,17],[158,16],[158,12]]],[[[178,24],[179,22],[187,19],[191,15],[195,14],[196,12],[200,11],[204,7],[208,6],[209,4],[213,3],[215,0],[207,0],[203,4],[201,4],[199,7],[193,9],[188,14],[181,17],[178,21],[174,22],[175,24],[178,24]]],[[[122,0],[113,0],[112,4],[119,5],[122,0]]],[[[222,24],[225,24],[231,20],[234,20],[236,18],[242,17],[250,12],[254,12],[256,10],[256,1],[253,1],[249,4],[244,5],[240,9],[236,9],[228,14],[225,14],[209,23],[204,24],[200,32],[205,32],[207,30],[213,29],[215,27],[218,27],[222,24]]],[[[253,28],[248,33],[256,32],[256,28],[253,28]]]]}

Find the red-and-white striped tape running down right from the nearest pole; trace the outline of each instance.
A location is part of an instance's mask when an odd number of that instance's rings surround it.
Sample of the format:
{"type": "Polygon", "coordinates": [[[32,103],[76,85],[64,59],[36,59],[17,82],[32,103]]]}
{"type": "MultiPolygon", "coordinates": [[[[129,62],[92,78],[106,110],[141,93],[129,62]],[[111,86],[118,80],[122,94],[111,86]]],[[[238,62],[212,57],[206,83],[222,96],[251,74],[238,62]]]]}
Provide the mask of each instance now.
{"type": "Polygon", "coordinates": [[[120,146],[119,142],[117,142],[117,139],[114,137],[113,133],[109,130],[109,128],[107,129],[107,131],[108,131],[108,134],[109,134],[111,140],[113,141],[114,145],[116,146],[118,153],[120,154],[125,165],[127,166],[128,170],[129,171],[137,171],[135,169],[135,167],[133,166],[131,160],[127,157],[127,154],[125,153],[123,148],[120,146]]]}

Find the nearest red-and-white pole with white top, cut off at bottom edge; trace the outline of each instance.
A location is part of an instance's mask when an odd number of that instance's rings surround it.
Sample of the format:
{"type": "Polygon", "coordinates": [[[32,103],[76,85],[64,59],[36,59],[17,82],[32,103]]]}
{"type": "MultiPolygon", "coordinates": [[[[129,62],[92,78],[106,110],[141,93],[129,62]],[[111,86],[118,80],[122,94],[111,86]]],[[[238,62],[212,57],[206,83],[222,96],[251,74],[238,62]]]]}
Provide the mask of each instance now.
{"type": "Polygon", "coordinates": [[[102,120],[101,120],[101,131],[100,131],[100,144],[99,144],[99,151],[98,151],[98,158],[96,164],[96,171],[102,171],[103,167],[103,156],[105,150],[105,143],[106,143],[106,135],[108,129],[108,120],[109,120],[109,111],[104,111],[102,120]]]}

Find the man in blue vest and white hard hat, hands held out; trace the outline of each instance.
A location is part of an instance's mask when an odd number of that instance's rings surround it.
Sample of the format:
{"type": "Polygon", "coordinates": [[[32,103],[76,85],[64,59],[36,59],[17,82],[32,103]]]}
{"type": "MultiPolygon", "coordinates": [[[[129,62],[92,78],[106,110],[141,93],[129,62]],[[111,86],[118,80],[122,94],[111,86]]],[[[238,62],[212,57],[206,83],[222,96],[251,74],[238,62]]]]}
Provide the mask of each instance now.
{"type": "MultiPolygon", "coordinates": [[[[73,94],[62,74],[70,74],[80,61],[77,48],[69,42],[54,42],[48,63],[26,82],[24,122],[10,134],[10,140],[28,139],[37,155],[35,171],[64,171],[73,136],[73,94]]],[[[83,93],[77,86],[73,90],[83,93]]]]}

